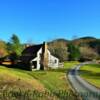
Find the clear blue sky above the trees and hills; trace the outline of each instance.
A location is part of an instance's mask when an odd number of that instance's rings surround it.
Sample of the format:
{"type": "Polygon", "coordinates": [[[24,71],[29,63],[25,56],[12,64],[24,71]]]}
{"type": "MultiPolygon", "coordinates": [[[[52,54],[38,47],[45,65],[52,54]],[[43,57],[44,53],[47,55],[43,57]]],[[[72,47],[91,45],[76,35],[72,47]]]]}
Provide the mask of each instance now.
{"type": "Polygon", "coordinates": [[[100,0],[0,0],[0,39],[100,38],[100,0]]]}

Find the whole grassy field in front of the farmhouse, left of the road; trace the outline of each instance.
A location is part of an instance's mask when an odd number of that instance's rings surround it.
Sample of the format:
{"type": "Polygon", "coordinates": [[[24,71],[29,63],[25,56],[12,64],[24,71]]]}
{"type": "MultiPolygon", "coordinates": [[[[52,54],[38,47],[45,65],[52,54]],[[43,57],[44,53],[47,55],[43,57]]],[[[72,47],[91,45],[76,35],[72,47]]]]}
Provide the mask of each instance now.
{"type": "MultiPolygon", "coordinates": [[[[16,93],[20,88],[23,92],[27,90],[31,91],[31,94],[33,90],[36,90],[39,93],[38,95],[47,91],[43,100],[66,100],[67,95],[70,94],[67,99],[75,100],[76,97],[69,87],[66,72],[76,64],[78,64],[78,62],[67,62],[64,63],[64,68],[32,72],[0,66],[0,90],[1,92],[9,90],[10,93],[12,90],[16,93]]],[[[10,97],[10,100],[28,99],[28,97],[20,99],[21,96],[11,98],[12,97],[10,97]]],[[[39,100],[40,98],[36,97],[35,99],[39,100]]],[[[33,100],[33,97],[30,96],[29,100],[33,100]]]]}

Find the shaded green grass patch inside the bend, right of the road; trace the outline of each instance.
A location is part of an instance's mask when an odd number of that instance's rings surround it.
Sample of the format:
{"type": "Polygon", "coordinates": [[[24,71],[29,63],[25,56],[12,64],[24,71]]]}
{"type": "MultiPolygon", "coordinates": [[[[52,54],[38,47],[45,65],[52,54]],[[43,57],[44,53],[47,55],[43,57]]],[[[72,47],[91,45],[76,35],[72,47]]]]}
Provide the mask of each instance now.
{"type": "Polygon", "coordinates": [[[80,75],[91,84],[100,88],[100,64],[88,64],[81,67],[80,75]]]}

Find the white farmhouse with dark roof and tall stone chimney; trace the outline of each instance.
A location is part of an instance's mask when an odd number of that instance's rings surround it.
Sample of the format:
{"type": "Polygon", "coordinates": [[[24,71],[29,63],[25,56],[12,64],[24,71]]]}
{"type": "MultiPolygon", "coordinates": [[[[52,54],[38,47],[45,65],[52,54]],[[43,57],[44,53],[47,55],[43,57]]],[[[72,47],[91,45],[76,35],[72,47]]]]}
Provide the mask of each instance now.
{"type": "Polygon", "coordinates": [[[45,70],[58,68],[59,59],[51,55],[47,43],[27,47],[21,56],[21,60],[33,70],[45,70]]]}

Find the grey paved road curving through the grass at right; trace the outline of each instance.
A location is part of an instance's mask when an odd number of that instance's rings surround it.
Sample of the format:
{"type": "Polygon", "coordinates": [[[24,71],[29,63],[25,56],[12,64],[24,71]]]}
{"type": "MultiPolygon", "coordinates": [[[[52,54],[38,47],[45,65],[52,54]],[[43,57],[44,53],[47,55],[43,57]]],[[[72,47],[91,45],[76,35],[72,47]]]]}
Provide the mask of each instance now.
{"type": "Polygon", "coordinates": [[[83,100],[100,100],[100,89],[90,85],[78,75],[80,67],[84,64],[77,65],[69,71],[68,79],[71,86],[83,100]]]}

